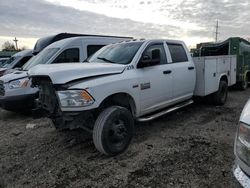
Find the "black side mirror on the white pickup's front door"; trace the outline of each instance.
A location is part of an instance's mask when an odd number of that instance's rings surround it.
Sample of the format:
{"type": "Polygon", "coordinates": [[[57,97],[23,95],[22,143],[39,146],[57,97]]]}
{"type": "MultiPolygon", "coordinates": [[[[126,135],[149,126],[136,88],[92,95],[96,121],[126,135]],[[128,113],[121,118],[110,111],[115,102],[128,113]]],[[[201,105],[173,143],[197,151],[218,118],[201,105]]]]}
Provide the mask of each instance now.
{"type": "Polygon", "coordinates": [[[161,51],[159,49],[152,50],[151,57],[149,55],[143,55],[137,67],[143,68],[159,64],[161,61],[161,51]]]}

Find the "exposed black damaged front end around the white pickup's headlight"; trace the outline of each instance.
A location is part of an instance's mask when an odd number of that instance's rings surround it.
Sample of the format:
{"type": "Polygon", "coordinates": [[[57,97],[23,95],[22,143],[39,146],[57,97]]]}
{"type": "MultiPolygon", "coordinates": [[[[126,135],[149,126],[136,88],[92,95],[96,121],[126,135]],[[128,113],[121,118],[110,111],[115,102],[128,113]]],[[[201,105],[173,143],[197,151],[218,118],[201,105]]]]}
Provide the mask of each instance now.
{"type": "Polygon", "coordinates": [[[67,89],[65,85],[53,85],[47,76],[32,77],[32,85],[39,88],[39,98],[36,101],[36,111],[49,117],[57,129],[82,128],[92,132],[94,125],[94,110],[66,112],[61,110],[58,91],[67,89]]]}

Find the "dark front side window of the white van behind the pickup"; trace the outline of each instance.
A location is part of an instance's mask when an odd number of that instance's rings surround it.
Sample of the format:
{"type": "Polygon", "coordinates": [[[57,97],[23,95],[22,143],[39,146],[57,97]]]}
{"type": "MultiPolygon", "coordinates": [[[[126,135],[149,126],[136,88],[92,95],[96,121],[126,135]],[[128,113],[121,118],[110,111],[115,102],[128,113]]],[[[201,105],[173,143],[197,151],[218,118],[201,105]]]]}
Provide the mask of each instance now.
{"type": "Polygon", "coordinates": [[[79,62],[79,48],[70,48],[64,50],[53,63],[79,62]]]}

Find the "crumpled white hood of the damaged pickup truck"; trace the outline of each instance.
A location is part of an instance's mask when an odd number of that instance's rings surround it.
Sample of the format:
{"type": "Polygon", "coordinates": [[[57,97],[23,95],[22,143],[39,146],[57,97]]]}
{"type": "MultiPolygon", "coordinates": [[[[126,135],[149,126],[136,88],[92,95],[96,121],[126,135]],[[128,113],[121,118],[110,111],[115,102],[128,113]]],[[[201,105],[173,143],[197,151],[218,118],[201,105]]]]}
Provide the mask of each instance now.
{"type": "Polygon", "coordinates": [[[53,84],[64,84],[72,80],[122,73],[125,65],[112,63],[60,63],[37,65],[28,72],[29,76],[49,76],[53,84]]]}

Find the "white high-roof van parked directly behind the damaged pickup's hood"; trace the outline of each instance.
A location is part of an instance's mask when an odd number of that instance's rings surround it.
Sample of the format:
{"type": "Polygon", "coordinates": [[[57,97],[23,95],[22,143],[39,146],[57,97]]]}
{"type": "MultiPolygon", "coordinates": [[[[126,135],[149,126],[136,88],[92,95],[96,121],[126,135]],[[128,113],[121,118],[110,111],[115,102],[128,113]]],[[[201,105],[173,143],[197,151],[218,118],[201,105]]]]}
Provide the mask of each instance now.
{"type": "Polygon", "coordinates": [[[38,88],[31,88],[27,71],[39,64],[58,64],[65,62],[83,62],[101,47],[123,40],[127,37],[73,37],[54,42],[44,48],[23,66],[23,71],[0,78],[0,106],[5,110],[19,112],[32,109],[38,97],[38,88]]]}

